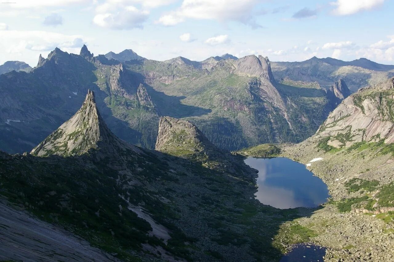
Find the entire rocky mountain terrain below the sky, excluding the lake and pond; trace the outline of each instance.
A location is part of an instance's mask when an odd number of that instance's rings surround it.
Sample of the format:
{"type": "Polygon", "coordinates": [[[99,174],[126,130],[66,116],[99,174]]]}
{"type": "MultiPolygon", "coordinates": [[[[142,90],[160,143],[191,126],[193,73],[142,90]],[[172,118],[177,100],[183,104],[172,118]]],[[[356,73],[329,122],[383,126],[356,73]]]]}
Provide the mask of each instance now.
{"type": "Polygon", "coordinates": [[[0,260],[278,261],[318,243],[327,261],[391,261],[391,69],[312,60],[279,77],[263,56],[121,62],[84,46],[0,75],[0,260]],[[232,148],[305,164],[331,198],[261,204],[232,148]]]}

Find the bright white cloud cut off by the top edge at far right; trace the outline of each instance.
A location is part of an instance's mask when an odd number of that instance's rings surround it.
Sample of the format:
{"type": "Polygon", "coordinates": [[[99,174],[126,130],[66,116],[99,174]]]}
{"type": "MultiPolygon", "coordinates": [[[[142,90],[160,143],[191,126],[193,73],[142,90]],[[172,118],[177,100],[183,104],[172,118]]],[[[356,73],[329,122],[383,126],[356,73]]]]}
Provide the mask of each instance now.
{"type": "Polygon", "coordinates": [[[383,2],[385,0],[337,0],[330,4],[336,7],[333,10],[335,15],[352,15],[381,6],[383,2]]]}

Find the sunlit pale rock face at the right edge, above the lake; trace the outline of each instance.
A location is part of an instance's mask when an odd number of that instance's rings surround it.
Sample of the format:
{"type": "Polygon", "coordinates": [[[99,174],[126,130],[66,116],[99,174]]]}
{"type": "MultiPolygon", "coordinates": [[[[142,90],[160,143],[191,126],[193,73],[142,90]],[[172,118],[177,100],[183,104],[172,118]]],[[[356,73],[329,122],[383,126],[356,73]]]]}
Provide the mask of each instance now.
{"type": "Polygon", "coordinates": [[[329,114],[315,137],[329,137],[334,147],[355,142],[394,142],[394,78],[363,88],[329,114]]]}

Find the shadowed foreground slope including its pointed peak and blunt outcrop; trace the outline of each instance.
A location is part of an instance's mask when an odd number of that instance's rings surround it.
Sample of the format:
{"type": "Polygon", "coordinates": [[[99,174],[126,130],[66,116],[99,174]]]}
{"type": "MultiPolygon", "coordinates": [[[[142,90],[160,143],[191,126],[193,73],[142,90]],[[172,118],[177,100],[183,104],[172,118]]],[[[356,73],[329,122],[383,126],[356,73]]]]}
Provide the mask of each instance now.
{"type": "MultiPolygon", "coordinates": [[[[108,260],[276,261],[281,256],[286,245],[273,246],[271,238],[283,221],[305,211],[277,210],[255,200],[256,170],[243,157],[222,152],[195,125],[173,118],[162,118],[179,125],[162,125],[167,135],[157,141],[167,153],[129,145],[102,122],[94,96],[89,91],[80,110],[32,154],[0,153],[4,203],[66,228],[105,251],[108,260]],[[165,150],[168,141],[192,153],[165,150]]],[[[13,241],[19,246],[24,239],[15,235],[13,241]]],[[[52,261],[54,251],[43,241],[34,243],[43,250],[40,256],[52,261]]],[[[15,259],[9,248],[2,256],[15,259]]],[[[56,252],[67,255],[63,248],[56,252]]]]}

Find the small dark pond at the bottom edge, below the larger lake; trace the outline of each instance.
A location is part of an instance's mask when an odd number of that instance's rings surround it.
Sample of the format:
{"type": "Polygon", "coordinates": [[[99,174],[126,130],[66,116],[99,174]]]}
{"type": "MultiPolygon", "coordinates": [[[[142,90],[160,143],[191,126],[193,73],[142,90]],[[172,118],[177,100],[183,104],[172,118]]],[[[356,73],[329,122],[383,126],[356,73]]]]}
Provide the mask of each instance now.
{"type": "Polygon", "coordinates": [[[325,248],[310,244],[299,244],[284,255],[279,262],[323,262],[325,248]]]}

